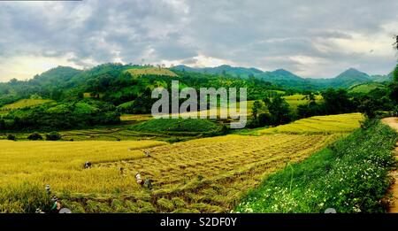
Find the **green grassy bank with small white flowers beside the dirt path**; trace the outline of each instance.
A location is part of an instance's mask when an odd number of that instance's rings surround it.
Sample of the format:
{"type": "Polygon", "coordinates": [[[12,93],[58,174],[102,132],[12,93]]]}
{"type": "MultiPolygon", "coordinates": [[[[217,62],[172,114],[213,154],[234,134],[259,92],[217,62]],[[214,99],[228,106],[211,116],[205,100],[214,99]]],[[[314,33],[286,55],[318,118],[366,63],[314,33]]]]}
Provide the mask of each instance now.
{"type": "Polygon", "coordinates": [[[375,123],[288,165],[244,196],[236,212],[386,212],[382,198],[398,135],[375,123]]]}

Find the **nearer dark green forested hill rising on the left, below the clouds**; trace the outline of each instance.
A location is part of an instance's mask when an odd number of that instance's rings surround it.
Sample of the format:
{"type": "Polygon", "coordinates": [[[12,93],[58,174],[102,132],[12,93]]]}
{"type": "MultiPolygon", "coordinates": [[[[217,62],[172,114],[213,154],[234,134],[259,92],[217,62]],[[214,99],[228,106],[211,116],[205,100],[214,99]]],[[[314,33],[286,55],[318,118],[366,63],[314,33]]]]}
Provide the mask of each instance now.
{"type": "Polygon", "coordinates": [[[56,101],[84,97],[100,98],[102,101],[118,106],[137,98],[150,98],[151,90],[157,87],[170,89],[172,80],[178,80],[183,86],[195,89],[201,87],[245,87],[248,88],[249,99],[261,97],[266,89],[279,89],[272,83],[260,79],[240,79],[230,75],[183,71],[172,73],[166,69],[163,69],[162,72],[162,69],[142,65],[104,64],[80,71],[71,67],[58,66],[34,76],[29,81],[14,79],[0,83],[0,107],[31,96],[50,98],[56,101]],[[131,71],[139,69],[143,69],[142,73],[144,74],[134,74],[140,72],[131,71]]]}

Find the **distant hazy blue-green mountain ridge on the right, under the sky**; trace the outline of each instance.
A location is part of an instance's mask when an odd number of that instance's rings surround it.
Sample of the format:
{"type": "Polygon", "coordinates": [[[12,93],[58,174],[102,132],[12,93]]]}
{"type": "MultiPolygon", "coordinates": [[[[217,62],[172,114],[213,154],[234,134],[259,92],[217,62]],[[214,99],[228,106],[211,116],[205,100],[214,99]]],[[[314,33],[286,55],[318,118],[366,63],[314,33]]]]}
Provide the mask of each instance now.
{"type": "Polygon", "coordinates": [[[301,76],[291,73],[284,69],[278,69],[272,72],[263,72],[256,68],[234,67],[231,65],[219,65],[216,67],[189,67],[187,65],[176,65],[172,70],[197,72],[197,73],[211,73],[211,74],[228,74],[234,77],[249,78],[256,77],[264,81],[270,81],[273,84],[287,88],[297,89],[325,89],[325,88],[344,88],[362,84],[365,82],[377,81],[391,81],[392,73],[387,75],[373,75],[360,72],[355,68],[340,73],[334,78],[330,79],[311,79],[302,78],[301,76]]]}

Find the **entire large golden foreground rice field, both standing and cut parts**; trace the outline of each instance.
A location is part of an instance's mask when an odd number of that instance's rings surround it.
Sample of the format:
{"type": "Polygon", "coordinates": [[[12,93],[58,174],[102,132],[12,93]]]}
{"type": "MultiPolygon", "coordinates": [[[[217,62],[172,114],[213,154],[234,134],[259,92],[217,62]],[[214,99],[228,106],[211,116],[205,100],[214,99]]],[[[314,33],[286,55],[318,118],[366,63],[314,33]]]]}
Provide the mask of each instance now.
{"type": "Polygon", "coordinates": [[[337,137],[226,135],[174,144],[0,141],[0,187],[50,184],[73,212],[228,212],[265,175],[337,137]],[[85,161],[93,167],[83,169],[85,161]],[[152,190],[135,183],[138,171],[153,181],[152,190]]]}

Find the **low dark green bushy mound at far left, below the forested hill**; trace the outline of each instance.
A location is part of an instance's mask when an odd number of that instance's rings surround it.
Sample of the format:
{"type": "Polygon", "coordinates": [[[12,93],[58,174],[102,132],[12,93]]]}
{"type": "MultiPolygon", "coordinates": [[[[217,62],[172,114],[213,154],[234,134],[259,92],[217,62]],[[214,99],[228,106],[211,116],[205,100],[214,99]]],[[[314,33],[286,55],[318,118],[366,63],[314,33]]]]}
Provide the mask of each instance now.
{"type": "Polygon", "coordinates": [[[57,130],[112,125],[120,122],[115,107],[96,100],[36,105],[12,110],[0,119],[4,130],[57,130]]]}

